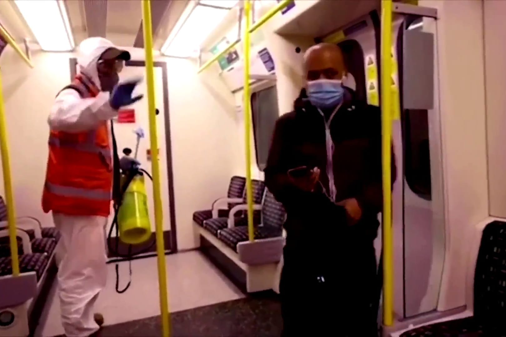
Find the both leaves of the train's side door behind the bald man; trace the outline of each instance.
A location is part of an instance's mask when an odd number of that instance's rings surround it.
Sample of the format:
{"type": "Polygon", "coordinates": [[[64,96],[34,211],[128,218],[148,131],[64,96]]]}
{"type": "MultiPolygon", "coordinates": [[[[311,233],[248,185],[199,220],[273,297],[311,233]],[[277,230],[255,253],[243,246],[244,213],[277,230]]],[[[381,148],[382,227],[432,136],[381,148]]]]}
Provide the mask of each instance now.
{"type": "MultiPolygon", "coordinates": [[[[434,21],[396,15],[393,22],[392,88],[397,103],[393,110],[399,115],[393,125],[393,160],[397,166],[393,187],[394,306],[403,318],[436,309],[443,268],[443,181],[437,81],[433,80],[437,71],[434,21]],[[416,75],[424,70],[430,72],[430,83],[427,76],[416,75]],[[403,78],[404,74],[409,75],[403,78]]],[[[338,45],[352,79],[344,84],[355,86],[352,88],[357,98],[379,106],[377,13],[371,12],[332,35],[345,37],[338,45]]],[[[379,256],[381,230],[375,246],[379,256]]]]}

